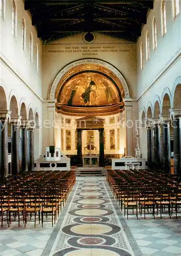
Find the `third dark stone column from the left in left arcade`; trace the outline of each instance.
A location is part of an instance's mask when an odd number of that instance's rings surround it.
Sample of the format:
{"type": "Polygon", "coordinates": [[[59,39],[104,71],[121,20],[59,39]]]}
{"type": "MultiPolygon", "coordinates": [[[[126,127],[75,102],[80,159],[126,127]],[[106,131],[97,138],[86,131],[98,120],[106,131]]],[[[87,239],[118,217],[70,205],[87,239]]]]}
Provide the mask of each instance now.
{"type": "Polygon", "coordinates": [[[28,143],[27,143],[27,129],[29,121],[21,120],[21,172],[28,172],[28,143]]]}

